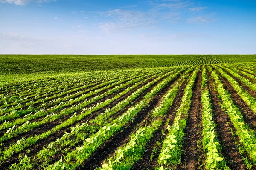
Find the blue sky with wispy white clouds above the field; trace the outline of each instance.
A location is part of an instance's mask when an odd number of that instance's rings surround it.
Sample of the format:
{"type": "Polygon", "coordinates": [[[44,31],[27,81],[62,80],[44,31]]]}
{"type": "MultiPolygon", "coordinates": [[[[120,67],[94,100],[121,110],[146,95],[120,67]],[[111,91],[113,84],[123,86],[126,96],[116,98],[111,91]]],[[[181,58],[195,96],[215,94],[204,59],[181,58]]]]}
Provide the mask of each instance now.
{"type": "Polygon", "coordinates": [[[256,54],[256,0],[0,0],[0,54],[256,54]]]}

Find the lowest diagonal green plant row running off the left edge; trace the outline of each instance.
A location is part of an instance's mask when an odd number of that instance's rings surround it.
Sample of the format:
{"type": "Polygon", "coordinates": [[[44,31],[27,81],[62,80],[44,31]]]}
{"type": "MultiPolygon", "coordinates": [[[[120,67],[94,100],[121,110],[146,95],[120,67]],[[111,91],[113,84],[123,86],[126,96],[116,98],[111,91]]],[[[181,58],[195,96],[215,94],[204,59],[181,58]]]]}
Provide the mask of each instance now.
{"type": "MultiPolygon", "coordinates": [[[[169,73],[167,73],[166,75],[169,75],[169,73]]],[[[0,154],[0,163],[5,161],[6,159],[10,158],[14,153],[20,153],[25,148],[36,144],[39,140],[46,139],[49,135],[56,133],[59,130],[61,130],[67,126],[73,125],[75,122],[81,121],[82,119],[84,119],[84,117],[90,115],[92,112],[97,111],[100,108],[103,108],[103,107],[111,104],[111,102],[113,102],[114,100],[125,95],[128,91],[131,90],[131,88],[128,88],[127,90],[122,91],[122,93],[116,94],[116,96],[113,96],[113,98],[111,98],[111,99],[107,99],[104,102],[100,102],[98,105],[84,109],[84,111],[81,114],[70,117],[69,119],[65,120],[64,122],[61,122],[61,124],[55,126],[51,130],[48,130],[47,132],[28,137],[22,141],[18,141],[17,143],[10,145],[10,147],[8,149],[0,152],[1,153],[0,154]]],[[[83,106],[81,106],[81,107],[83,107],[83,106]]],[[[71,109],[71,108],[67,109],[66,112],[69,114],[72,114],[75,112],[75,111],[73,111],[73,109],[71,109]]]]}

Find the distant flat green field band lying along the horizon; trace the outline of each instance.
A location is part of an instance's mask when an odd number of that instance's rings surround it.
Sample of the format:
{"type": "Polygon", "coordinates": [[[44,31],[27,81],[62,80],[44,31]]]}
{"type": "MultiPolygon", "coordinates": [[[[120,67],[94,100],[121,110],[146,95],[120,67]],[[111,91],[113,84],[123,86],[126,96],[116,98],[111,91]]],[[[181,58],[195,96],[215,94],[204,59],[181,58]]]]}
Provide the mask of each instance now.
{"type": "Polygon", "coordinates": [[[256,62],[256,55],[0,55],[0,74],[256,62]]]}

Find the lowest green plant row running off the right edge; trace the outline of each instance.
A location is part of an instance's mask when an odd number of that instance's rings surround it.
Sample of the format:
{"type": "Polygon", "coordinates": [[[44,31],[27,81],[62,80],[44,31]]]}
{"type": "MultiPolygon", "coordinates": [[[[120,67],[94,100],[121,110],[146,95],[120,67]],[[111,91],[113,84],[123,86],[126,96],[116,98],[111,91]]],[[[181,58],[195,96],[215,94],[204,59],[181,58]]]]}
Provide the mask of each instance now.
{"type": "Polygon", "coordinates": [[[219,75],[216,71],[212,71],[212,77],[214,78],[215,90],[218,92],[221,98],[222,109],[230,117],[231,122],[236,128],[236,135],[239,136],[241,144],[244,146],[247,155],[252,160],[253,164],[256,163],[256,138],[255,132],[244,122],[243,116],[239,111],[239,108],[233,103],[230,94],[224,89],[224,85],[221,83],[219,75]]]}

